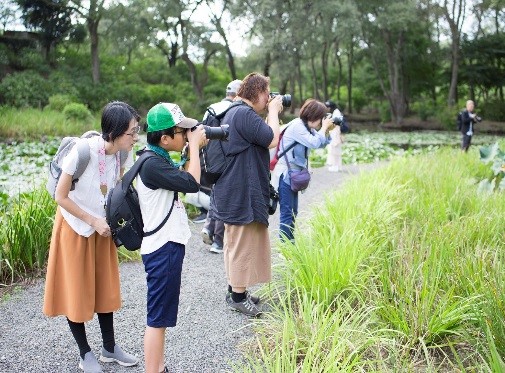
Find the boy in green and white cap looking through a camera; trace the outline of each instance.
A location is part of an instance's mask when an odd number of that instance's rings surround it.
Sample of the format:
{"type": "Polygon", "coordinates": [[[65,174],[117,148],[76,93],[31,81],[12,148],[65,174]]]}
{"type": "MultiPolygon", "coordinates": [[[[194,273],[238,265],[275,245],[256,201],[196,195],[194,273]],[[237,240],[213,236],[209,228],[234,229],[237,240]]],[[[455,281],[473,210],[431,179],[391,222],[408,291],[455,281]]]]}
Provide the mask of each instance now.
{"type": "Polygon", "coordinates": [[[147,278],[147,325],[144,335],[147,373],[168,371],[164,366],[165,330],[177,323],[182,263],[191,232],[184,205],[177,193],[197,192],[200,183],[200,146],[205,143],[203,126],[186,118],[179,106],[159,103],[147,113],[147,148],[156,157],[146,160],[137,176],[137,192],[144,231],[140,254],[147,278]],[[189,156],[180,163],[169,151],[182,151],[189,143],[189,156]],[[193,156],[193,157],[191,157],[193,156]],[[181,166],[184,166],[182,169],[181,166]]]}

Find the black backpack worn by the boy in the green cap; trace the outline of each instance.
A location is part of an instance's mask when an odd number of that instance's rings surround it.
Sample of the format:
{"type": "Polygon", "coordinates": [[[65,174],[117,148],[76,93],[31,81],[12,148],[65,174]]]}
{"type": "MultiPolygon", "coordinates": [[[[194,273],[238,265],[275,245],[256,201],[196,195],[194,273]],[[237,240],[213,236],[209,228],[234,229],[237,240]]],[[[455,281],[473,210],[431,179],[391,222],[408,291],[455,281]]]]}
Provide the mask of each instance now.
{"type": "Polygon", "coordinates": [[[140,248],[142,239],[158,232],[167,222],[174,202],[177,199],[177,193],[174,195],[170,211],[158,227],[150,232],[144,232],[144,222],[140,211],[139,197],[137,190],[132,182],[140,171],[144,162],[155,157],[153,152],[146,151],[135,162],[132,168],[128,170],[123,178],[116,184],[107,197],[105,207],[105,216],[109,224],[112,239],[117,247],[124,246],[127,250],[134,251],[140,248]]]}

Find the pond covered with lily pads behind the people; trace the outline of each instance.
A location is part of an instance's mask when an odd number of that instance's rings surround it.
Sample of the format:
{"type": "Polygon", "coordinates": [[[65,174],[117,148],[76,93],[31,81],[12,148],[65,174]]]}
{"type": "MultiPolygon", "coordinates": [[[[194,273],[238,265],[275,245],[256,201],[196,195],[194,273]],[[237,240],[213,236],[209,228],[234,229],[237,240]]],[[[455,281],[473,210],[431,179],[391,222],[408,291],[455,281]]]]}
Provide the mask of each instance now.
{"type": "MultiPolygon", "coordinates": [[[[494,135],[474,136],[475,146],[492,144],[502,137],[494,135]]],[[[45,185],[48,165],[58,149],[60,138],[48,138],[44,142],[0,144],[0,195],[14,196],[45,185]]],[[[367,163],[390,159],[405,153],[433,151],[441,146],[458,147],[461,135],[457,132],[361,132],[345,135],[344,163],[367,163]]],[[[141,135],[135,150],[145,146],[141,135]]],[[[325,149],[311,153],[311,164],[324,165],[325,149]]]]}

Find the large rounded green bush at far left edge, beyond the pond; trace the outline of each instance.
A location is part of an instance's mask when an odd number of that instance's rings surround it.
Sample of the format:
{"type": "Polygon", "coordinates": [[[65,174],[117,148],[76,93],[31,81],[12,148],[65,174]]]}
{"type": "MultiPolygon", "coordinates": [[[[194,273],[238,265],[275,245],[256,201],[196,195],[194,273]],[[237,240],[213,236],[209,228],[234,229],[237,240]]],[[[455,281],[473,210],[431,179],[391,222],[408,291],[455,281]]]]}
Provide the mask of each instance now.
{"type": "Polygon", "coordinates": [[[2,101],[14,107],[44,107],[50,87],[46,79],[34,71],[7,75],[0,82],[2,101]]]}

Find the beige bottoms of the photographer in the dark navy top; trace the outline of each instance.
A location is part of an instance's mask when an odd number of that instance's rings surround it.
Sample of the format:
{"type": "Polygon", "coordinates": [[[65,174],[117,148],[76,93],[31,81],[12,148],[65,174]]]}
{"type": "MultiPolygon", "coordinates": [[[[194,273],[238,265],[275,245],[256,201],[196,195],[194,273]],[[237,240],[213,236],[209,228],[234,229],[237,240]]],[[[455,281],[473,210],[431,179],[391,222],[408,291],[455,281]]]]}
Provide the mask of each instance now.
{"type": "Polygon", "coordinates": [[[271,247],[266,225],[258,222],[225,224],[223,249],[228,285],[247,288],[272,279],[271,247]]]}

